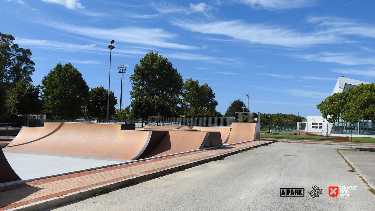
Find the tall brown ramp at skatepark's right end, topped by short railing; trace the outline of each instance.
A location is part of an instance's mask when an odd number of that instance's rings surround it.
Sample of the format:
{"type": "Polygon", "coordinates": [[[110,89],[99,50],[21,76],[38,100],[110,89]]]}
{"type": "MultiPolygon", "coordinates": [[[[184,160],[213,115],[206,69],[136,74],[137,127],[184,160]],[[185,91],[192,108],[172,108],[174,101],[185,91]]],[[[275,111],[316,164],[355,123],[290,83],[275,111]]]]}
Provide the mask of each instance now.
{"type": "Polygon", "coordinates": [[[225,144],[240,143],[257,139],[257,124],[248,122],[232,122],[231,133],[225,144]]]}

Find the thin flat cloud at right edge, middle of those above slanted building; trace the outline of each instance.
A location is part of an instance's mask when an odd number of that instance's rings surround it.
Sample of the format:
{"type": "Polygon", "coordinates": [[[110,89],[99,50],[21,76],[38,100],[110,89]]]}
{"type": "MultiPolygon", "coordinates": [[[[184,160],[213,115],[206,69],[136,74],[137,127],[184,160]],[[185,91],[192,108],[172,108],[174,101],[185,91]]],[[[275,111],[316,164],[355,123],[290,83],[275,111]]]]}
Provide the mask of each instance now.
{"type": "Polygon", "coordinates": [[[375,57],[359,57],[353,53],[321,52],[317,54],[291,55],[293,57],[318,62],[333,62],[342,65],[375,65],[375,57]]]}

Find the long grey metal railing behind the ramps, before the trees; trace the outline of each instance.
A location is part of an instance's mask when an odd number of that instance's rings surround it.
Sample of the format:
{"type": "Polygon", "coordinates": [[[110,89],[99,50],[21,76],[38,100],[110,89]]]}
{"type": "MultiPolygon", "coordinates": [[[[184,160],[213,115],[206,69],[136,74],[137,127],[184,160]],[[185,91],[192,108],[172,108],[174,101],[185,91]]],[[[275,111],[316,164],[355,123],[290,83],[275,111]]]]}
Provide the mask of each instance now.
{"type": "Polygon", "coordinates": [[[232,122],[234,122],[234,117],[149,116],[148,124],[146,125],[231,127],[232,122]]]}

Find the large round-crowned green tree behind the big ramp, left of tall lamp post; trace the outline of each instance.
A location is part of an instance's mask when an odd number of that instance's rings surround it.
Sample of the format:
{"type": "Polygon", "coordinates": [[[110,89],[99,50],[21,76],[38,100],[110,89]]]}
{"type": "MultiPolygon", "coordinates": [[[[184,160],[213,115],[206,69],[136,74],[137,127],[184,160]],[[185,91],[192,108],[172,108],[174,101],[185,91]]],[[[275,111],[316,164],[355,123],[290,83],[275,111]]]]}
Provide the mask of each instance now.
{"type": "Polygon", "coordinates": [[[83,116],[89,86],[71,63],[58,63],[42,80],[44,112],[69,120],[83,116]]]}

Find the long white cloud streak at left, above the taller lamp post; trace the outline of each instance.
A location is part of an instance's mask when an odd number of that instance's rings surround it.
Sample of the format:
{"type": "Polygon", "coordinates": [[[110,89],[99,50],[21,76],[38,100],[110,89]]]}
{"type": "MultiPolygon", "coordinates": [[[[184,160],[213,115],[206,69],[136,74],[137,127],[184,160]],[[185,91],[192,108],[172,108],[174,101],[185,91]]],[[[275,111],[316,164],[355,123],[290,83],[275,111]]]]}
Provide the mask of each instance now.
{"type": "Polygon", "coordinates": [[[176,34],[165,32],[163,29],[145,29],[138,27],[124,27],[118,29],[100,29],[95,27],[78,27],[68,24],[59,23],[44,23],[47,26],[56,29],[64,30],[66,32],[85,35],[101,40],[114,39],[115,41],[151,45],[164,48],[177,49],[198,49],[198,47],[191,45],[181,45],[177,43],[167,42],[166,39],[174,39],[176,34]]]}

